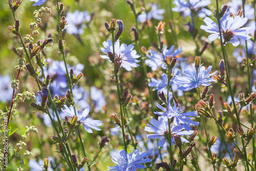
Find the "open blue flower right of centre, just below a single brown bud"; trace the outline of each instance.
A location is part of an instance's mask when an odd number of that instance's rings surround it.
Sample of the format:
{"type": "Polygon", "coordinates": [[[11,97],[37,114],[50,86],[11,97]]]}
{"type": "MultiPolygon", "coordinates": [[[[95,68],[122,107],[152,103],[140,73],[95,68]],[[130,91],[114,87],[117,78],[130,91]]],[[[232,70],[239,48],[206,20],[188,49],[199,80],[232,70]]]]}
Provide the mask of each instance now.
{"type": "Polygon", "coordinates": [[[200,85],[202,86],[210,86],[209,82],[214,82],[215,80],[211,78],[214,73],[210,73],[212,66],[209,66],[207,70],[205,71],[204,67],[199,67],[199,71],[197,73],[197,70],[195,66],[193,66],[193,70],[186,70],[184,71],[187,76],[180,76],[176,75],[174,82],[177,84],[181,84],[182,86],[179,87],[179,90],[187,91],[194,88],[198,88],[200,85]],[[210,78],[209,78],[210,77],[210,78]]]}

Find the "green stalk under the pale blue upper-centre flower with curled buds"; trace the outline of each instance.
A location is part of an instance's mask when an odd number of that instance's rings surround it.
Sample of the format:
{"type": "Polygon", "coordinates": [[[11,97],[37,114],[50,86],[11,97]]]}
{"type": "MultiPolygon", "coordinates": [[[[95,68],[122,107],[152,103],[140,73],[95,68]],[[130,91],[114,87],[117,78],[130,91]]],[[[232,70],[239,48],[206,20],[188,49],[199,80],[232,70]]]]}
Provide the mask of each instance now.
{"type": "MultiPolygon", "coordinates": [[[[113,54],[115,55],[115,35],[114,35],[114,30],[112,30],[111,34],[112,34],[112,42],[113,42],[113,54]]],[[[119,101],[120,113],[121,113],[123,145],[124,145],[124,150],[127,153],[127,146],[126,146],[125,137],[124,137],[123,112],[122,112],[123,110],[122,110],[122,103],[121,103],[121,100],[120,100],[121,93],[120,93],[119,78],[118,78],[118,75],[117,75],[116,63],[114,63],[114,73],[115,73],[115,78],[116,78],[116,88],[117,88],[118,101],[119,101]]]]}

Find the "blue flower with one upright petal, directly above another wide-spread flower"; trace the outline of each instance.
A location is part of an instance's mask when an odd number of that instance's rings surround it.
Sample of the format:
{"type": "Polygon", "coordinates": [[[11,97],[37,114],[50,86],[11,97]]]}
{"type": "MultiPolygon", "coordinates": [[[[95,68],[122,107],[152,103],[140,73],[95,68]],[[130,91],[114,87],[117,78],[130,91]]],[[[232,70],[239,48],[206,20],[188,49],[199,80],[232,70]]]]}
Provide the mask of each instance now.
{"type": "Polygon", "coordinates": [[[182,107],[179,103],[173,102],[173,104],[170,103],[170,101],[173,98],[173,93],[170,92],[168,103],[167,103],[167,109],[163,108],[160,104],[155,102],[156,106],[161,109],[164,112],[155,112],[157,115],[166,116],[169,119],[173,119],[174,125],[183,125],[185,130],[190,131],[191,127],[190,125],[199,125],[199,122],[192,121],[192,117],[190,116],[197,116],[197,112],[186,112],[185,108],[182,107]]]}

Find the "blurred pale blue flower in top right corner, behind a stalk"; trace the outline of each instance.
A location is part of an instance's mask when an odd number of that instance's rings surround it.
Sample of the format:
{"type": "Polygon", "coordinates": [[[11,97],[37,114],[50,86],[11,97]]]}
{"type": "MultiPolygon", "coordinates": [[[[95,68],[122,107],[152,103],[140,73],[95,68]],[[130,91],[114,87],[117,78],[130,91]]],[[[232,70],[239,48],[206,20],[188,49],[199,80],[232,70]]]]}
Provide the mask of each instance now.
{"type": "MultiPolygon", "coordinates": [[[[230,11],[233,15],[237,15],[239,10],[243,10],[243,2],[240,0],[231,0],[231,2],[227,3],[228,5],[228,11],[230,11]]],[[[244,6],[245,10],[245,17],[248,19],[254,18],[254,9],[252,6],[248,3],[244,6]]]]}

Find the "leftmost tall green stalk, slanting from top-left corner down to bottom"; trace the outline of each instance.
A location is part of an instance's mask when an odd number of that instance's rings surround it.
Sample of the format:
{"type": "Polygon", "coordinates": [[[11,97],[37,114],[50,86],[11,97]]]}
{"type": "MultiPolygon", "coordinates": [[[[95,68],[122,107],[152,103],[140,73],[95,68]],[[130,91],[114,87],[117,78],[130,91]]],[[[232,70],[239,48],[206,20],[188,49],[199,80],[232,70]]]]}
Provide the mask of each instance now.
{"type": "MultiPolygon", "coordinates": [[[[14,10],[12,9],[10,0],[9,0],[8,2],[9,2],[10,9],[11,9],[11,11],[12,11],[12,14],[13,14],[14,20],[16,20],[15,12],[14,12],[14,10]]],[[[32,68],[32,72],[33,72],[33,74],[36,76],[34,67],[33,67],[32,62],[31,62],[31,60],[30,60],[30,56],[29,56],[29,54],[28,54],[28,52],[27,52],[27,49],[26,49],[26,46],[25,46],[25,44],[24,44],[24,42],[23,42],[23,38],[22,38],[22,35],[20,34],[20,31],[18,31],[18,37],[19,37],[19,39],[20,39],[20,42],[22,42],[22,46],[23,46],[23,48],[24,48],[24,51],[25,51],[27,60],[29,61],[29,64],[30,64],[30,66],[31,66],[31,68],[32,68]]],[[[37,87],[38,87],[39,91],[41,91],[40,84],[39,84],[39,82],[38,82],[37,77],[35,77],[35,81],[36,81],[36,83],[37,83],[37,87]]],[[[51,104],[54,106],[54,103],[53,103],[52,98],[51,98],[51,94],[49,93],[48,95],[49,95],[49,98],[48,98],[48,99],[50,99],[51,104]]],[[[54,123],[54,121],[53,121],[53,119],[52,119],[52,117],[51,117],[51,115],[50,115],[48,106],[46,106],[46,109],[47,109],[47,114],[48,114],[48,116],[50,117],[50,119],[51,119],[51,121],[52,121],[52,123],[53,123],[53,125],[54,125],[54,129],[55,129],[55,131],[56,131],[56,133],[57,133],[57,135],[58,135],[58,138],[61,139],[61,136],[60,136],[60,134],[59,134],[59,132],[58,132],[58,130],[57,130],[57,127],[56,127],[56,125],[55,125],[55,123],[54,123]]],[[[58,113],[57,113],[57,112],[56,112],[56,116],[58,117],[58,113]]],[[[60,124],[60,122],[59,122],[59,124],[60,124]]],[[[61,124],[60,124],[60,127],[61,127],[61,124]]],[[[61,127],[61,130],[62,130],[62,127],[61,127]]],[[[62,132],[63,132],[63,130],[62,130],[62,132]]],[[[63,134],[63,135],[65,136],[65,134],[63,134]]],[[[66,155],[66,156],[69,156],[69,157],[71,158],[71,154],[68,155],[67,152],[66,152],[66,147],[65,147],[65,145],[64,145],[63,143],[61,143],[61,146],[63,147],[63,151],[64,151],[65,155],[66,155]]],[[[66,146],[67,146],[67,149],[69,149],[68,144],[66,144],[66,146]]],[[[69,160],[69,158],[68,158],[68,161],[69,161],[69,162],[68,162],[67,164],[69,165],[70,169],[71,169],[71,170],[74,170],[73,167],[72,167],[72,164],[71,164],[71,162],[70,162],[70,160],[69,160]]]]}

